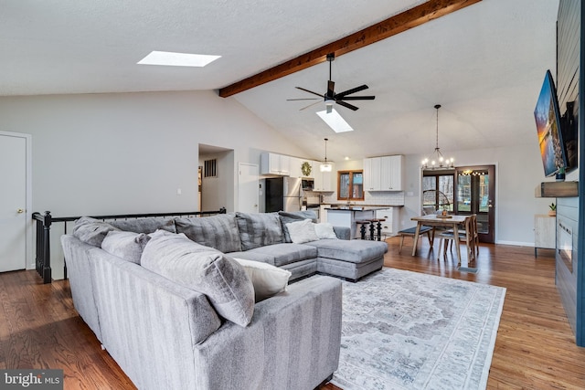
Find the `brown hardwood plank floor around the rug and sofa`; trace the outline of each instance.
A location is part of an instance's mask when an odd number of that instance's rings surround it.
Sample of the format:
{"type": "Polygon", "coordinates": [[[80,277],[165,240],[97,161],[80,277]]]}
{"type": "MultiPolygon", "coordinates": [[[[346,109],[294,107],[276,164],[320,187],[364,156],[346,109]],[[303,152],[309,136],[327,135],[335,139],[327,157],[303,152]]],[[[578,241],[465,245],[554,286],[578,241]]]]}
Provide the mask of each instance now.
{"type": "MultiPolygon", "coordinates": [[[[399,255],[399,238],[389,238],[385,265],[507,289],[489,389],[585,388],[585,348],[575,345],[555,288],[553,250],[535,258],[533,248],[482,244],[473,274],[458,271],[452,255],[437,261],[420,241],[413,258],[411,240],[399,255]]],[[[68,281],[43,285],[32,270],[0,274],[0,302],[0,368],[62,368],[68,390],[135,388],[73,309],[68,281]]]]}

